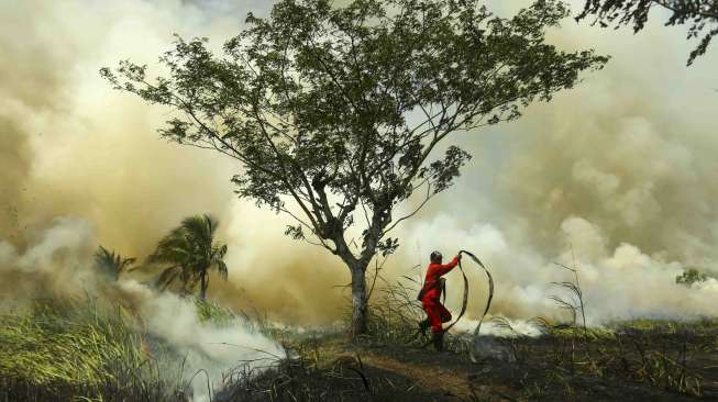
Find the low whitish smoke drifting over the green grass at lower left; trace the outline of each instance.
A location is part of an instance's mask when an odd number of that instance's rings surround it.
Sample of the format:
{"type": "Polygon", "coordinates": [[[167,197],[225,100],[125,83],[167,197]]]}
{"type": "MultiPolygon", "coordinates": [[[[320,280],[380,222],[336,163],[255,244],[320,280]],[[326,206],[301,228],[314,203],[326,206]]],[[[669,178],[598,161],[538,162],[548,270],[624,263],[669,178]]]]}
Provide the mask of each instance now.
{"type": "MultiPolygon", "coordinates": [[[[96,247],[92,225],[77,217],[54,220],[40,233],[37,243],[22,254],[0,241],[2,308],[19,309],[22,302],[43,295],[90,294],[109,298],[110,303],[129,301],[150,335],[164,340],[177,355],[186,356],[184,378],[205,370],[212,388],[231,369],[267,367],[285,357],[280,345],[261,334],[251,322],[238,317],[220,326],[203,323],[195,304],[177,294],[157,292],[132,279],[104,282],[92,265],[96,247]]],[[[195,400],[208,398],[206,381],[200,376],[194,379],[195,400]]]]}

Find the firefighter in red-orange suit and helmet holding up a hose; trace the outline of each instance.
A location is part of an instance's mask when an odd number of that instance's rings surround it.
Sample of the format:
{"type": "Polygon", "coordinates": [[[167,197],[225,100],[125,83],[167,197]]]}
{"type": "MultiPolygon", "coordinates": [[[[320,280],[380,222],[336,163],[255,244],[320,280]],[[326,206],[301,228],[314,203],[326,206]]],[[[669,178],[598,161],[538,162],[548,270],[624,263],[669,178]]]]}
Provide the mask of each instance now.
{"type": "Polygon", "coordinates": [[[431,327],[432,343],[439,351],[442,351],[444,348],[444,331],[442,324],[451,321],[451,313],[441,304],[440,300],[444,282],[442,276],[459,265],[461,254],[455,256],[446,265],[441,264],[442,258],[439,252],[433,252],[429,256],[430,264],[427,268],[427,277],[419,293],[421,306],[427,312],[427,320],[419,323],[419,330],[426,333],[431,327]]]}

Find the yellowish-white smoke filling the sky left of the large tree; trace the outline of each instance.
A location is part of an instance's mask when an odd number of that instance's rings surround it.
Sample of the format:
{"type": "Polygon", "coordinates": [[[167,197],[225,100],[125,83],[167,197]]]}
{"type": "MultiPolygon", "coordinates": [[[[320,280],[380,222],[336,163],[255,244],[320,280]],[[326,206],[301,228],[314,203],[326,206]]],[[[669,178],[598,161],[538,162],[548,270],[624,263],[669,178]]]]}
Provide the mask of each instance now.
{"type": "MultiPolygon", "coordinates": [[[[346,278],[332,258],[284,238],[286,222],[273,213],[236,201],[232,160],[164,143],[156,129],[166,111],[111,90],[98,74],[123,58],[155,64],[173,33],[207,35],[219,46],[246,12],[261,14],[267,8],[263,1],[238,4],[77,0],[0,5],[3,249],[23,254],[56,219],[73,216],[92,223],[97,236],[88,247],[100,243],[142,259],[183,217],[210,212],[222,222],[220,237],[231,249],[231,283],[212,279],[217,298],[302,323],[341,314],[341,292],[331,287],[346,278]]],[[[3,284],[19,280],[10,273],[14,269],[2,267],[3,284]]]]}

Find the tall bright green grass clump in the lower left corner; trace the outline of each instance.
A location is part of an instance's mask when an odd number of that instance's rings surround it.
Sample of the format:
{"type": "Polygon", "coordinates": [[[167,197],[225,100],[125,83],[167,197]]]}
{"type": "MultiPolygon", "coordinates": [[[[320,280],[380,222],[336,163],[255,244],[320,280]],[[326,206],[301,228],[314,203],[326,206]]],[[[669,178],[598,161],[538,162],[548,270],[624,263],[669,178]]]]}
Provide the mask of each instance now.
{"type": "Polygon", "coordinates": [[[96,301],[38,300],[0,315],[0,401],[177,400],[139,323],[96,301]]]}

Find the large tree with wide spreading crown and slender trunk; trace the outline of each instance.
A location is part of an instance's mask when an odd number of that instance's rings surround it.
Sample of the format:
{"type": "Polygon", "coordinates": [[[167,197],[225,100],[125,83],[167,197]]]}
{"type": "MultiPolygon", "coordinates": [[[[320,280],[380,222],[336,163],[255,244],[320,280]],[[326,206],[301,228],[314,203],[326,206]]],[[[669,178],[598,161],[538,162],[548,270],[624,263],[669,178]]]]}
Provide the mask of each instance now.
{"type": "Polygon", "coordinates": [[[236,159],[241,198],[288,214],[296,225],[286,234],[341,258],[361,334],[368,264],[396,249],[390,231],[470,158],[450,145],[434,159],[439,144],[515,120],[607,60],[545,43],[567,14],[555,0],[510,19],[478,0],[281,0],[268,18],[250,14],[222,56],[206,38],[177,38],[161,57],[167,76],[150,79],[130,62],[101,74],[172,107],[163,137],[236,159]],[[400,214],[412,194],[421,199],[400,214]]]}

